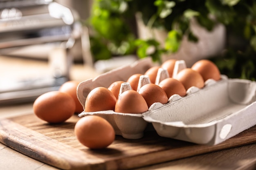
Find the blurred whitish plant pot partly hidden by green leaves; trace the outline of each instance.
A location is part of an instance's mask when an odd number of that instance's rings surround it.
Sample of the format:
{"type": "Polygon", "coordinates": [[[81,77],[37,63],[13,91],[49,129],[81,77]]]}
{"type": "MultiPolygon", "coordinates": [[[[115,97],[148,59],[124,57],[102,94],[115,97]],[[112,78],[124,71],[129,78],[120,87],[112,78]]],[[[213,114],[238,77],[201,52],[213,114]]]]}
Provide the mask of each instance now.
{"type": "MultiPolygon", "coordinates": [[[[165,30],[148,29],[142,22],[140,14],[136,16],[136,19],[139,38],[155,38],[161,46],[164,46],[167,37],[165,30]]],[[[190,42],[184,36],[180,49],[176,53],[163,55],[161,57],[162,62],[171,58],[185,60],[186,65],[191,67],[196,61],[218,55],[224,49],[226,30],[222,24],[216,25],[213,31],[209,32],[197,24],[195,20],[191,20],[191,31],[198,37],[198,42],[190,42]]]]}

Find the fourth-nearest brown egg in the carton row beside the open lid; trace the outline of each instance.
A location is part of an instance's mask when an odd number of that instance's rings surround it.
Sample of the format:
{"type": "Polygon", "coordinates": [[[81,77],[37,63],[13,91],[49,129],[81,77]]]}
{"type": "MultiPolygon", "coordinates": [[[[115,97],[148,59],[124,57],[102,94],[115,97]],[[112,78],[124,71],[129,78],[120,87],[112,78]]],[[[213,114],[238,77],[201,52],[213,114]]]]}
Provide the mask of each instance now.
{"type": "Polygon", "coordinates": [[[186,91],[192,87],[203,88],[204,79],[197,71],[192,70],[191,68],[184,68],[180,71],[175,79],[179,80],[185,87],[186,91]]]}

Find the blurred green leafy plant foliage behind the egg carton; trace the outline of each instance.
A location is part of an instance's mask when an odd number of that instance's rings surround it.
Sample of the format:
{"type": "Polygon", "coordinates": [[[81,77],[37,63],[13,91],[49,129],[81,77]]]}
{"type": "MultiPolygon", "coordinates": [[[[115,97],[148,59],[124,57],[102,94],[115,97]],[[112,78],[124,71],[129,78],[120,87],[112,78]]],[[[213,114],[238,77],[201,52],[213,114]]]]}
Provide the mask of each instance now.
{"type": "Polygon", "coordinates": [[[205,57],[222,74],[256,79],[256,2],[251,0],[95,0],[87,23],[93,32],[94,60],[136,54],[157,62],[163,62],[164,55],[179,53],[184,39],[197,45],[202,41],[202,31],[196,34],[193,24],[209,33],[221,28],[220,40],[213,45],[219,45],[217,51],[223,49],[222,53],[209,52],[205,57]],[[141,38],[139,23],[153,36],[141,38]],[[166,33],[162,42],[153,30],[166,33]]]}

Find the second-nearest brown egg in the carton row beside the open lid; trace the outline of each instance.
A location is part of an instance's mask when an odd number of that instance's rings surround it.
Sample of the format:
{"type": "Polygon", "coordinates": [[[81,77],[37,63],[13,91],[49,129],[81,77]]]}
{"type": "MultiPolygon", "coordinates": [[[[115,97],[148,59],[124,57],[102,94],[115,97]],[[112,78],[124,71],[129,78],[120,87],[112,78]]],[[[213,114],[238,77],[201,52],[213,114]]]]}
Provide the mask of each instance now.
{"type": "Polygon", "coordinates": [[[160,86],[156,84],[145,84],[139,89],[139,94],[146,100],[148,108],[156,102],[166,104],[168,102],[168,97],[160,86]]]}

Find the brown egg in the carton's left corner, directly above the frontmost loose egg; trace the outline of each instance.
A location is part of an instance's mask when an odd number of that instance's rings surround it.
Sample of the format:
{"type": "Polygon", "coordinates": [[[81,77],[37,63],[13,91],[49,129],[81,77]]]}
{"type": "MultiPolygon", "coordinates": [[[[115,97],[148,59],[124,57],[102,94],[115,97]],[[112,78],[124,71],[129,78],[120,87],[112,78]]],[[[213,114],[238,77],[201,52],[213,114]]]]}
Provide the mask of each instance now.
{"type": "Polygon", "coordinates": [[[86,97],[85,112],[114,110],[117,98],[105,87],[96,87],[86,97]]]}

